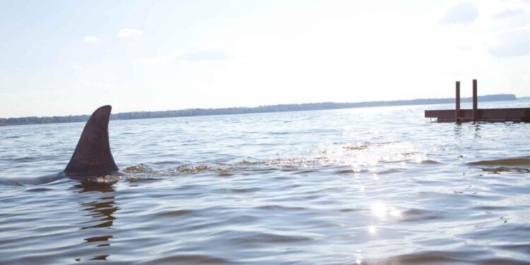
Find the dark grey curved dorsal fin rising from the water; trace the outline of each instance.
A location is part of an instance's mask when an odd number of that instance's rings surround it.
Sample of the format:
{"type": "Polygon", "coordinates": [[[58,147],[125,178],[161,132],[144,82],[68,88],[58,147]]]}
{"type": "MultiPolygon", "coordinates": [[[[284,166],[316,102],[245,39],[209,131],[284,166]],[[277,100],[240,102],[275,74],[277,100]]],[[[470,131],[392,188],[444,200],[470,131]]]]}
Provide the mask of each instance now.
{"type": "Polygon", "coordinates": [[[110,105],[99,107],[86,122],[64,173],[70,177],[110,175],[118,170],[109,144],[110,105]]]}

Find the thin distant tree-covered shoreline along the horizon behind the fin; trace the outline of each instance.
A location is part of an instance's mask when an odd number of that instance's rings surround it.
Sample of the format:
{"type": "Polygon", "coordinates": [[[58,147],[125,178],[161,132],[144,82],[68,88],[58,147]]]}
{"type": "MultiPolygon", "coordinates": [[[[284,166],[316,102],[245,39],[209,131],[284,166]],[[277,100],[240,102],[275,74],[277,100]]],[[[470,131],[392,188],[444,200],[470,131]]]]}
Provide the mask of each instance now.
{"type": "MultiPolygon", "coordinates": [[[[529,97],[525,97],[529,98],[529,97]]],[[[525,99],[521,98],[521,99],[525,99]]],[[[483,95],[478,97],[479,102],[517,100],[514,94],[483,95]]],[[[248,114],[266,112],[293,112],[303,110],[336,110],[360,107],[387,107],[406,105],[434,105],[454,102],[454,98],[425,98],[415,100],[391,100],[391,101],[367,101],[353,103],[303,103],[303,104],[281,104],[267,105],[260,107],[226,107],[218,109],[187,109],[187,110],[165,110],[153,112],[122,112],[111,114],[110,119],[156,119],[169,117],[193,117],[211,116],[223,114],[248,114]]],[[[461,102],[471,102],[471,98],[461,98],[461,102]]],[[[20,118],[0,118],[0,126],[25,125],[25,124],[52,124],[66,122],[86,122],[90,115],[69,115],[54,117],[20,117],[20,118]]]]}

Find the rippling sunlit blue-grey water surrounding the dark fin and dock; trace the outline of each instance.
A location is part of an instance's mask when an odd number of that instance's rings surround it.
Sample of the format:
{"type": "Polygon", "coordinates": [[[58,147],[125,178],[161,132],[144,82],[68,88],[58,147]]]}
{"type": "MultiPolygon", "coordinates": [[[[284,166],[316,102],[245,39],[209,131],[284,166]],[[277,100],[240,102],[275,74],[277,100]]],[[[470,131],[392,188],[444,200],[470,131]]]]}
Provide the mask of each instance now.
{"type": "Polygon", "coordinates": [[[84,124],[0,127],[0,264],[530,264],[530,124],[440,107],[112,121],[100,182],[84,124]]]}

